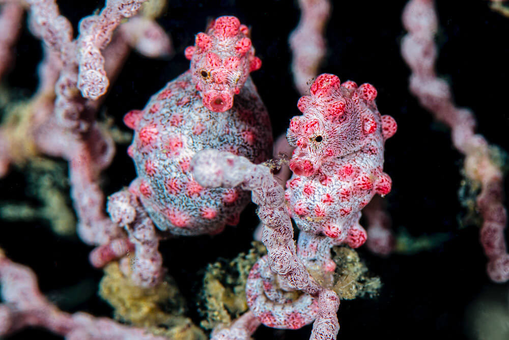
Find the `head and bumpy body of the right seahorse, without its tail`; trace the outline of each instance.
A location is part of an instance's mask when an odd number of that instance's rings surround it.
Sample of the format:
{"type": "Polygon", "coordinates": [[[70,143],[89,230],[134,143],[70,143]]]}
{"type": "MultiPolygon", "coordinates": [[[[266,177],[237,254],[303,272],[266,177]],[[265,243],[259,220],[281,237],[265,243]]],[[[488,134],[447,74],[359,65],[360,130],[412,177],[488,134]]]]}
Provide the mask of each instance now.
{"type": "Polygon", "coordinates": [[[299,100],[303,115],[292,119],[287,133],[296,147],[286,191],[290,213],[299,229],[357,248],[366,240],[360,210],[376,193],[390,191],[383,148],[397,126],[378,112],[371,84],[357,88],[322,74],[310,93],[299,100]]]}

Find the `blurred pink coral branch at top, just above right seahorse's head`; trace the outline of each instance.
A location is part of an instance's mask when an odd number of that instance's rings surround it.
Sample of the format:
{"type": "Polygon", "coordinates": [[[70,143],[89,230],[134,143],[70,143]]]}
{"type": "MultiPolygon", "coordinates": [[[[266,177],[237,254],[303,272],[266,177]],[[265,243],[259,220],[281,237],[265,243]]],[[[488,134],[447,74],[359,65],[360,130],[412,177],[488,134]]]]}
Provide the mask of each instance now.
{"type": "Polygon", "coordinates": [[[329,0],[299,0],[299,6],[302,14],[297,28],[290,35],[290,46],[295,87],[304,94],[309,90],[309,81],[318,75],[326,52],[323,33],[331,4],[329,0]]]}

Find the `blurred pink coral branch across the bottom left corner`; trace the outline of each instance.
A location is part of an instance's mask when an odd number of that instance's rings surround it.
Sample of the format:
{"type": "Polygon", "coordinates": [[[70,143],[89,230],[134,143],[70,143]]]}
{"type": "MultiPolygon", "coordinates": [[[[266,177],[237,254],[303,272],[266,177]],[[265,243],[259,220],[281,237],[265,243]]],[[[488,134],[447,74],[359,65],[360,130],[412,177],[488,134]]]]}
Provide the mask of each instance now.
{"type": "Polygon", "coordinates": [[[0,254],[0,286],[4,303],[0,304],[0,336],[24,327],[38,326],[65,336],[68,340],[146,339],[164,337],[146,330],[121,325],[87,313],[69,314],[52,305],[39,291],[35,274],[0,254]]]}

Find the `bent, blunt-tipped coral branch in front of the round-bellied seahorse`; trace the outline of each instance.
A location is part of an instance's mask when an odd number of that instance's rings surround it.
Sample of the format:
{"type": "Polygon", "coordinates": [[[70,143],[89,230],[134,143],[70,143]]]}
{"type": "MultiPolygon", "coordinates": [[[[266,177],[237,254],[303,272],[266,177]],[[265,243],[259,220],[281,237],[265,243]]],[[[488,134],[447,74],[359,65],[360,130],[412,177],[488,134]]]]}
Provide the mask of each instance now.
{"type": "Polygon", "coordinates": [[[318,294],[320,287],[310,280],[297,258],[284,190],[268,167],[252,164],[245,157],[229,152],[203,150],[193,158],[191,168],[196,182],[202,186],[241,186],[252,191],[252,201],[259,206],[258,216],[264,224],[262,241],[267,247],[270,268],[292,288],[318,294]]]}

